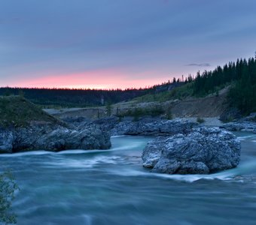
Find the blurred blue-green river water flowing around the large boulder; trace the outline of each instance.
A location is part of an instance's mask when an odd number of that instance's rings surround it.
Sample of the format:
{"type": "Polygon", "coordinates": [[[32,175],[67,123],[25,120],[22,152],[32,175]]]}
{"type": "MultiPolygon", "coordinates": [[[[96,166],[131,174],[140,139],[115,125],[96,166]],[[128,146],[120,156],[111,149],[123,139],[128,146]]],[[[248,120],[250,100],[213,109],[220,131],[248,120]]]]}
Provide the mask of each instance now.
{"type": "Polygon", "coordinates": [[[256,224],[256,134],[236,133],[242,160],[212,175],[162,175],[142,167],[150,138],[112,137],[103,151],[0,155],[20,191],[18,224],[256,224]]]}

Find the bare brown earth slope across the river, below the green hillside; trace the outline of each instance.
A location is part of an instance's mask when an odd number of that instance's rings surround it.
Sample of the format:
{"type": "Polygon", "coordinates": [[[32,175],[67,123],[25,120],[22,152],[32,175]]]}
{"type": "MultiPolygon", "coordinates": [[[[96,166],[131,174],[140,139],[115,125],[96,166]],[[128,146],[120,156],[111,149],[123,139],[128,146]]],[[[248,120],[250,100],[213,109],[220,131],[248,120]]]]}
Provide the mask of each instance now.
{"type": "MultiPolygon", "coordinates": [[[[186,98],[184,100],[170,101],[128,101],[111,105],[111,115],[132,116],[162,116],[165,118],[197,118],[197,117],[219,117],[228,108],[227,89],[221,90],[218,96],[209,95],[204,98],[186,98]]],[[[73,108],[44,110],[58,118],[89,118],[97,119],[107,117],[107,107],[73,108]]]]}

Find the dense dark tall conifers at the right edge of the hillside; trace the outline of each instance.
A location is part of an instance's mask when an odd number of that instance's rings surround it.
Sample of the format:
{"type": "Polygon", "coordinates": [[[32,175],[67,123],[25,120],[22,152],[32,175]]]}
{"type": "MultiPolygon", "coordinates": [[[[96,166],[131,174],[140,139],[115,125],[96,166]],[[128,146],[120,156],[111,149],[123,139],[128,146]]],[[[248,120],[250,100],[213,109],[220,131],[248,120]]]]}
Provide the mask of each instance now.
{"type": "Polygon", "coordinates": [[[193,95],[202,96],[216,92],[220,87],[231,85],[228,94],[230,105],[243,114],[256,111],[256,56],[237,59],[214,71],[197,73],[194,80],[193,95]]]}

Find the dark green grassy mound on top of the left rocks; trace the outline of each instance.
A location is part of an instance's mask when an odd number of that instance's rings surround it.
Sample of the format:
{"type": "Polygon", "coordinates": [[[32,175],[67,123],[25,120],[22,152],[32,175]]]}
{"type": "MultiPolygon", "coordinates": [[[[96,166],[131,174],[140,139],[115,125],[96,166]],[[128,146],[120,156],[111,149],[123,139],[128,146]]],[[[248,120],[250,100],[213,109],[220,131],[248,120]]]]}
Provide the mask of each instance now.
{"type": "Polygon", "coordinates": [[[0,97],[0,126],[26,126],[28,124],[59,123],[25,98],[19,96],[0,97]]]}

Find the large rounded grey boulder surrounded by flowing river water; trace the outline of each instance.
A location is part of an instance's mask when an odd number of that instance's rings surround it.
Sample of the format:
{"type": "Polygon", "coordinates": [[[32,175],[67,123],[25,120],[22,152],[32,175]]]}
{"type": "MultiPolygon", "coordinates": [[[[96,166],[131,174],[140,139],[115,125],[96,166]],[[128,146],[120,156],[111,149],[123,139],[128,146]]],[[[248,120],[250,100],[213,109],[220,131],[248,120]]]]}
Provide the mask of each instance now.
{"type": "Polygon", "coordinates": [[[142,153],[143,166],[152,172],[207,174],[236,167],[239,139],[218,127],[200,127],[188,134],[157,138],[142,153]]]}

